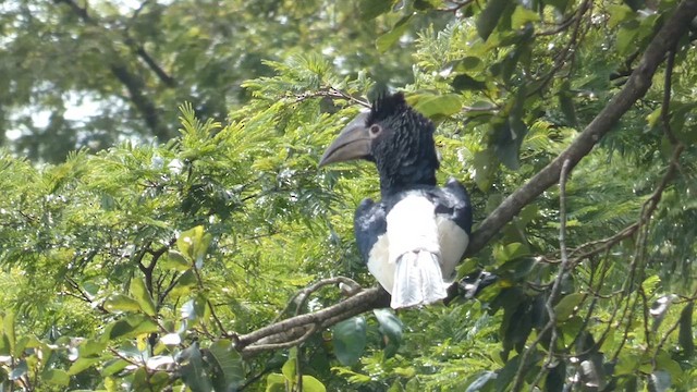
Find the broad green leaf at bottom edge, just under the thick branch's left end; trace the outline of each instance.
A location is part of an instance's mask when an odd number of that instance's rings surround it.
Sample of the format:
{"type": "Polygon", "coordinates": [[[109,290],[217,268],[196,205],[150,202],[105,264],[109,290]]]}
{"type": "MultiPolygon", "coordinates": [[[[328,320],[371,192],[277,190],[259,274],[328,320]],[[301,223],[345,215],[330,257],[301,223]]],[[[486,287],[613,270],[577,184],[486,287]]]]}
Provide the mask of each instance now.
{"type": "Polygon", "coordinates": [[[212,383],[216,391],[235,391],[244,383],[244,366],[242,356],[234,350],[230,340],[213,342],[206,355],[213,365],[212,383]]]}

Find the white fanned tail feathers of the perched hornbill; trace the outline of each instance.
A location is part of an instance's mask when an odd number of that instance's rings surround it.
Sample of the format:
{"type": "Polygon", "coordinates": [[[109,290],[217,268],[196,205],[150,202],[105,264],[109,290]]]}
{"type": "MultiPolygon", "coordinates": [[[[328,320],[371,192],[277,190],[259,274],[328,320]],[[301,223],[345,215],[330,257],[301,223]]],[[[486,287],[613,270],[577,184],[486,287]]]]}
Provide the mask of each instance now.
{"type": "Polygon", "coordinates": [[[396,260],[390,306],[398,309],[428,305],[444,298],[445,287],[438,255],[428,250],[407,252],[396,260]]]}

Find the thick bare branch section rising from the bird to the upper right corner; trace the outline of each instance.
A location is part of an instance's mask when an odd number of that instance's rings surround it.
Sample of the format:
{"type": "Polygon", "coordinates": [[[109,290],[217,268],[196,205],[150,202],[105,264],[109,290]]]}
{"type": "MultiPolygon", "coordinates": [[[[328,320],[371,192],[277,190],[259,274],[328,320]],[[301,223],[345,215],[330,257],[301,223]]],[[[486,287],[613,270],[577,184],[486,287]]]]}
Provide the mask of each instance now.
{"type": "Polygon", "coordinates": [[[673,15],[665,21],[663,27],[659,29],[648,45],[641,62],[634,72],[632,72],[622,90],[620,90],[594,121],[586,126],[568,148],[533,176],[525,185],[506,197],[505,200],[481,222],[478,230],[473,234],[467,254],[465,255],[466,257],[473,256],[481,250],[523,207],[533,201],[547,188],[554,185],[559,179],[562,163],[565,160],[571,162],[570,169],[573,169],[590,152],[602,136],[612,130],[612,126],[629,110],[632,105],[641,98],[649,89],[651,78],[659,64],[663,61],[665,53],[674,48],[677,40],[687,33],[689,24],[696,15],[697,0],[684,0],[675,8],[673,15]]]}

